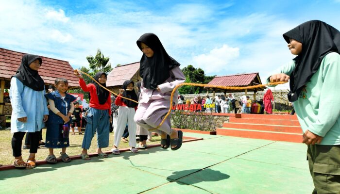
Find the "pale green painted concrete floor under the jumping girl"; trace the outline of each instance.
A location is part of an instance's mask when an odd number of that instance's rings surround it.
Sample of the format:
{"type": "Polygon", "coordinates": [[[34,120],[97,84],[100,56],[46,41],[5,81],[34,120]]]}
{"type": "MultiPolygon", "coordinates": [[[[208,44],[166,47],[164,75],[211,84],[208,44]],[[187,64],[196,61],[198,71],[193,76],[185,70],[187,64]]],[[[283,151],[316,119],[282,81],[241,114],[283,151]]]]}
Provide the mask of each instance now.
{"type": "Polygon", "coordinates": [[[107,159],[0,171],[0,194],[310,194],[306,145],[184,133],[204,140],[107,159]]]}

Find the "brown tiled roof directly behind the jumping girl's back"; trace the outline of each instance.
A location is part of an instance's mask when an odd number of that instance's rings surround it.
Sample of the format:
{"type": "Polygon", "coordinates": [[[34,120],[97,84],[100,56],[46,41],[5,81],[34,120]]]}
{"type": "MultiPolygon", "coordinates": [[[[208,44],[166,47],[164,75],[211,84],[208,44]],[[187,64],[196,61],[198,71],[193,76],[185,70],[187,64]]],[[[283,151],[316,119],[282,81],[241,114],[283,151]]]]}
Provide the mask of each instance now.
{"type": "Polygon", "coordinates": [[[107,75],[106,86],[112,87],[123,85],[124,81],[131,80],[138,70],[139,62],[116,66],[109,75],[107,75]]]}

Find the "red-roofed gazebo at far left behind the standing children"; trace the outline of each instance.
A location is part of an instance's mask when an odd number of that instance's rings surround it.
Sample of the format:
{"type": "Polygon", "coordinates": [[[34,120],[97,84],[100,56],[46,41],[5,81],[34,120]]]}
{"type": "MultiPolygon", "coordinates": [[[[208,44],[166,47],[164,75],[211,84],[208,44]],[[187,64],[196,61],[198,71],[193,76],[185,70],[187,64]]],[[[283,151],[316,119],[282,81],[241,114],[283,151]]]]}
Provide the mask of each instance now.
{"type": "MultiPolygon", "coordinates": [[[[26,53],[0,48],[0,121],[2,125],[5,125],[6,116],[11,116],[12,113],[12,106],[8,93],[5,94],[5,89],[10,88],[11,78],[16,74],[24,54],[26,53]]],[[[67,61],[40,57],[42,65],[39,75],[45,81],[46,88],[54,85],[55,78],[66,78],[70,88],[79,87],[78,78],[73,74],[73,68],[67,61]]]]}

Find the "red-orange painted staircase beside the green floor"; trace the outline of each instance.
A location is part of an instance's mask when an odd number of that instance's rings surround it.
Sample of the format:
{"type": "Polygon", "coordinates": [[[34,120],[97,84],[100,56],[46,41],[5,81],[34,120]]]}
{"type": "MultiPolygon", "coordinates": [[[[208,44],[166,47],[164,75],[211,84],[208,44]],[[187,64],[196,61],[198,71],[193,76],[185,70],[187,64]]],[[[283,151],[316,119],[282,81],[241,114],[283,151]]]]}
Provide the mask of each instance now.
{"type": "Polygon", "coordinates": [[[296,143],[302,142],[303,134],[296,115],[289,114],[236,114],[216,131],[217,135],[296,143]]]}

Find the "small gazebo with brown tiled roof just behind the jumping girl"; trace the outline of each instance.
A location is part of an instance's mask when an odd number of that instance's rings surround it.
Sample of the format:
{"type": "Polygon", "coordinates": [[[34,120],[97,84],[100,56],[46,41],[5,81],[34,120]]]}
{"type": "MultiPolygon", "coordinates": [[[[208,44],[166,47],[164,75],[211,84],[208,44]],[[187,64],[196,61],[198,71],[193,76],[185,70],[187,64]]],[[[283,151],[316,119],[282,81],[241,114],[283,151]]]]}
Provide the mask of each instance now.
{"type": "Polygon", "coordinates": [[[119,65],[112,69],[107,75],[106,87],[118,93],[126,80],[134,81],[135,85],[137,81],[142,80],[139,76],[139,62],[119,65]]]}

